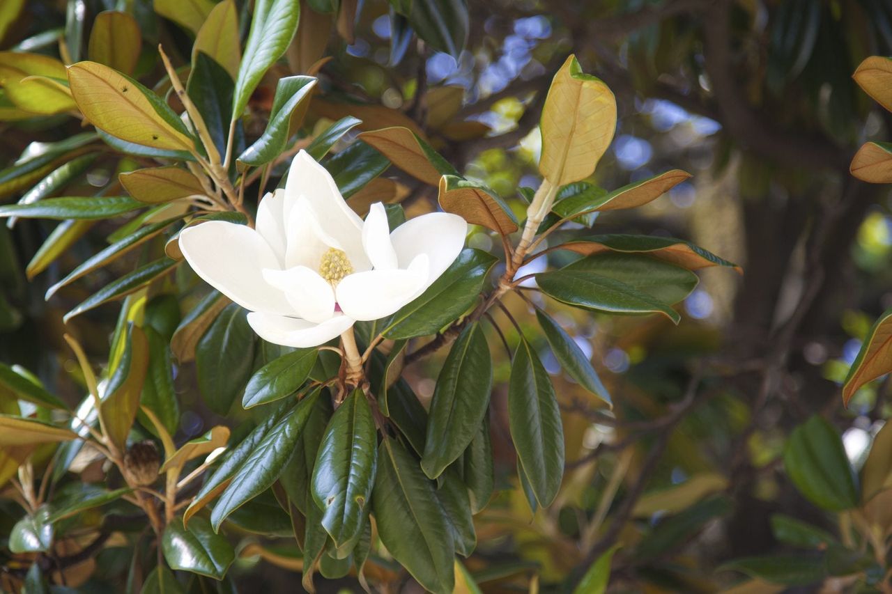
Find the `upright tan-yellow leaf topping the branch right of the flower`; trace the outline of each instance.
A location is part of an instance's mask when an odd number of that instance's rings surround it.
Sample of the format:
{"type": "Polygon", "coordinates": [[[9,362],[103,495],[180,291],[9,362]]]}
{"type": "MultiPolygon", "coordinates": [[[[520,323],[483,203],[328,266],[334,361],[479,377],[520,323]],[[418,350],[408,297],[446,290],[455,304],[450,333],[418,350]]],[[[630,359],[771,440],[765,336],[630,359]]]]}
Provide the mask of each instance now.
{"type": "Polygon", "coordinates": [[[599,78],[570,55],[542,108],[541,174],[554,186],[591,176],[616,129],[616,100],[599,78]]]}

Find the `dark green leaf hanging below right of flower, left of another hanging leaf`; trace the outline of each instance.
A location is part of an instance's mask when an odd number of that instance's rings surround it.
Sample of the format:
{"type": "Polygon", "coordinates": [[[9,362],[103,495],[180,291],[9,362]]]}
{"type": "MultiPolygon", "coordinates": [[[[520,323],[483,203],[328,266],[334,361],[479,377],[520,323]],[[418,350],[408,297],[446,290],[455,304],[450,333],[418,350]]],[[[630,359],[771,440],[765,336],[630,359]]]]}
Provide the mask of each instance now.
{"type": "Polygon", "coordinates": [[[437,377],[427,418],[421,469],[434,479],[465,451],[486,416],[492,362],[483,329],[468,325],[452,345],[437,377]]]}

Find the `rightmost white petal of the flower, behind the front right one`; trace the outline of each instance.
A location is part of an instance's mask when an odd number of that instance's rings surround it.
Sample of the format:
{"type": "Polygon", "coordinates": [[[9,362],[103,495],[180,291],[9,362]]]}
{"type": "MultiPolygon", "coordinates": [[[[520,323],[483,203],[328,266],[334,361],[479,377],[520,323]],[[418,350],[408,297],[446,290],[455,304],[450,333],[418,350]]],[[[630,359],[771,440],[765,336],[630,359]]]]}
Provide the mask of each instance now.
{"type": "Polygon", "coordinates": [[[391,243],[401,268],[407,267],[419,254],[427,255],[426,289],[458,258],[465,247],[466,235],[465,219],[448,212],[431,212],[396,227],[391,243]]]}

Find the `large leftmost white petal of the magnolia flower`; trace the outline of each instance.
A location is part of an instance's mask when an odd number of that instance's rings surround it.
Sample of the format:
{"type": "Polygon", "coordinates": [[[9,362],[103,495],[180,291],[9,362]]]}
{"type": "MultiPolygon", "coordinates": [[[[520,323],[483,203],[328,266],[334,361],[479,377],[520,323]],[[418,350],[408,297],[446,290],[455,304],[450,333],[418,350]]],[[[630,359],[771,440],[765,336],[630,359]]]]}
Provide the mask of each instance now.
{"type": "Polygon", "coordinates": [[[285,293],[270,286],[263,268],[278,268],[276,254],[251,227],[211,220],[179,234],[179,249],[204,281],[245,309],[293,313],[285,293]]]}

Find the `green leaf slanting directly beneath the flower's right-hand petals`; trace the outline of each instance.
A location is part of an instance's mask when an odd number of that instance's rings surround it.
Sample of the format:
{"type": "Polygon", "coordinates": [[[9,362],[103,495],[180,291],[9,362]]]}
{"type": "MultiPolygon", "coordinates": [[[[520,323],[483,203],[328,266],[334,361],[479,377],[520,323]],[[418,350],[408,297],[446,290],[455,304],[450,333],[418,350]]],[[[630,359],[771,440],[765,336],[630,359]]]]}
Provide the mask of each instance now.
{"type": "Polygon", "coordinates": [[[477,301],[495,263],[491,254],[466,248],[433,285],[393,314],[384,335],[401,339],[436,334],[477,301]]]}

